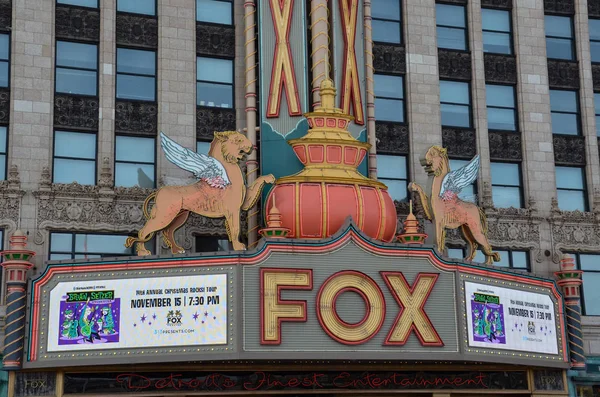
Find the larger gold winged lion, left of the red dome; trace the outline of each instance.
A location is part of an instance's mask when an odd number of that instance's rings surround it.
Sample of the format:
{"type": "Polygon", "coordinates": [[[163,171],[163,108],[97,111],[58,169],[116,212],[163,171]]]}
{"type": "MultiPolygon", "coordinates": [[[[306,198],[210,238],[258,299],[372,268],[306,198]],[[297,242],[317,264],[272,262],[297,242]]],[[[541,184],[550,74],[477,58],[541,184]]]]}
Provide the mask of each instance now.
{"type": "Polygon", "coordinates": [[[246,187],[239,161],[252,151],[246,136],[236,131],[215,132],[208,156],[186,149],[162,131],[160,143],[165,157],[178,167],[194,174],[197,181],[187,186],[164,186],[144,201],[146,224],[138,237],[128,237],[125,246],[136,244],[138,255],[150,255],[144,243],[162,230],[163,238],[174,254],[185,252],[177,245],[175,231],[187,221],[190,212],[209,218],[225,218],[227,235],[234,250],[244,250],[240,242],[240,212],[252,208],[265,183],[275,182],[273,175],[263,175],[246,187]],[[154,199],[152,210],[148,205],[154,199]]]}

